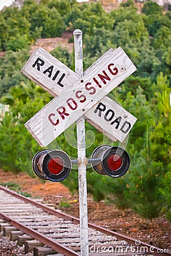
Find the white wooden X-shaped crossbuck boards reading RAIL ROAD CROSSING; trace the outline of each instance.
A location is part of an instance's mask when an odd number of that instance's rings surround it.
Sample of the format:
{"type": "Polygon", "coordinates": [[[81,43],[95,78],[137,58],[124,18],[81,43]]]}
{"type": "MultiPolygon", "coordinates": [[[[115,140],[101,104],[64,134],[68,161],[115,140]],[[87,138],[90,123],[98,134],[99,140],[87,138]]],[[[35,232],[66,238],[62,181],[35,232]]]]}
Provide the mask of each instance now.
{"type": "Polygon", "coordinates": [[[123,142],[136,118],[106,95],[136,71],[121,47],[109,49],[80,77],[42,48],[37,48],[22,73],[55,98],[26,124],[41,147],[46,147],[85,115],[107,137],[123,142]]]}

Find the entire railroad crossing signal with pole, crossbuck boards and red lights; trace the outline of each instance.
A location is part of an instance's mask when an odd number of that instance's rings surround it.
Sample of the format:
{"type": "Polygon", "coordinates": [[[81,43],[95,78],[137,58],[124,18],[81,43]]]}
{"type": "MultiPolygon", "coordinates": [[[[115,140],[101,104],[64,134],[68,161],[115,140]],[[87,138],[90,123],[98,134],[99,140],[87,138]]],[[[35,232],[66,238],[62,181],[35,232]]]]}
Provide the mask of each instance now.
{"type": "MultiPolygon", "coordinates": [[[[73,35],[75,69],[78,75],[41,48],[33,53],[24,66],[24,75],[53,96],[59,95],[35,114],[25,126],[40,146],[47,146],[77,121],[81,256],[88,256],[86,164],[95,161],[94,170],[99,174],[105,172],[109,176],[114,177],[116,174],[119,177],[127,172],[130,160],[123,148],[106,145],[99,146],[91,159],[87,160],[84,116],[108,137],[122,142],[136,118],[106,95],[136,68],[119,47],[115,51],[109,49],[83,74],[82,31],[75,30],[73,35]]],[[[41,150],[34,156],[32,167],[41,179],[60,181],[69,175],[72,160],[61,150],[41,150]]]]}

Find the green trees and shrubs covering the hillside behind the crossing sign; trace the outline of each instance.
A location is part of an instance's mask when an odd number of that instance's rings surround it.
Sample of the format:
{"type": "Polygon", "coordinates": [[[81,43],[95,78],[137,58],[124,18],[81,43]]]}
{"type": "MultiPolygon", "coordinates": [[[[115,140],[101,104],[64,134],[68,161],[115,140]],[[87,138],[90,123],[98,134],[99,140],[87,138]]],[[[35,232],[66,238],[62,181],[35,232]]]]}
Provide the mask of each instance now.
{"type": "MultiPolygon", "coordinates": [[[[22,171],[33,175],[31,160],[41,148],[23,124],[52,97],[20,71],[37,39],[61,36],[76,28],[84,33],[84,69],[107,49],[118,46],[137,67],[112,92],[138,120],[126,148],[130,170],[112,179],[89,168],[88,192],[94,200],[109,200],[122,210],[134,209],[143,218],[151,220],[166,214],[171,220],[171,11],[165,13],[152,1],[144,3],[141,13],[131,0],[108,13],[99,2],[79,4],[75,0],[41,0],[39,4],[26,0],[20,10],[7,7],[0,12],[0,51],[5,52],[0,57],[0,167],[15,174],[22,171]],[[5,105],[9,105],[7,112],[5,105]]],[[[66,47],[61,45],[51,54],[74,69],[74,53],[66,47]]],[[[86,129],[95,136],[87,147],[90,156],[106,138],[88,123],[86,129]]],[[[76,148],[66,141],[65,134],[50,149],[57,144],[77,157],[76,148]]],[[[77,180],[77,171],[72,171],[64,183],[74,192],[77,180]]]]}

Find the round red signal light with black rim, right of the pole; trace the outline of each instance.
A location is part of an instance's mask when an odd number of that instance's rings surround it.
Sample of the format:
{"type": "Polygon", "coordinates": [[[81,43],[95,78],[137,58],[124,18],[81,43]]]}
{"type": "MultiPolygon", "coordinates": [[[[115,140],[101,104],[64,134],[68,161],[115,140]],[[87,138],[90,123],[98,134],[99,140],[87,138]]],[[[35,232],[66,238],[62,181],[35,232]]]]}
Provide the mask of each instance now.
{"type": "Polygon", "coordinates": [[[101,162],[91,164],[98,174],[107,174],[111,177],[121,177],[130,167],[130,157],[126,150],[121,147],[101,145],[97,147],[91,159],[101,158],[101,162]]]}

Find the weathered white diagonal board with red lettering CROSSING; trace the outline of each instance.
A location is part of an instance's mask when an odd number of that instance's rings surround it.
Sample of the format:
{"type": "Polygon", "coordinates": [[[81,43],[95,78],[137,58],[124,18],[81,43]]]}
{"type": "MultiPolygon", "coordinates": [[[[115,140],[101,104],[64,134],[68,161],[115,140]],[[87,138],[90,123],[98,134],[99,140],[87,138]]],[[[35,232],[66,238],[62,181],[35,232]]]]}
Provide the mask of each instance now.
{"type": "Polygon", "coordinates": [[[135,70],[122,48],[109,49],[87,69],[74,88],[37,112],[25,124],[27,130],[40,146],[47,146],[135,70]]]}

